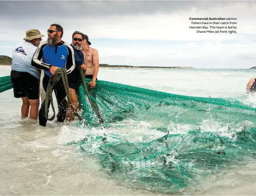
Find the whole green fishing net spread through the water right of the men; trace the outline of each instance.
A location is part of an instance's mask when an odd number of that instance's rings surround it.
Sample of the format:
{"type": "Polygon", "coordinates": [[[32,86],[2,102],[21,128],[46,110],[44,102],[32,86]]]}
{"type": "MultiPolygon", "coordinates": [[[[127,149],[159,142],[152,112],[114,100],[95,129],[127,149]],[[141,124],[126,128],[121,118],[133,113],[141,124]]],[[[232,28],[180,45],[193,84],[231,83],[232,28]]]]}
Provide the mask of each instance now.
{"type": "Polygon", "coordinates": [[[177,192],[218,169],[255,158],[256,109],[249,103],[181,96],[108,81],[97,81],[96,88],[88,92],[104,123],[99,124],[81,85],[78,98],[87,126],[131,129],[143,121],[147,129],[165,133],[147,142],[130,142],[122,134],[86,136],[80,148],[96,155],[113,177],[177,192]],[[209,124],[218,130],[211,130],[209,124]],[[186,133],[172,133],[182,126],[186,133]]]}

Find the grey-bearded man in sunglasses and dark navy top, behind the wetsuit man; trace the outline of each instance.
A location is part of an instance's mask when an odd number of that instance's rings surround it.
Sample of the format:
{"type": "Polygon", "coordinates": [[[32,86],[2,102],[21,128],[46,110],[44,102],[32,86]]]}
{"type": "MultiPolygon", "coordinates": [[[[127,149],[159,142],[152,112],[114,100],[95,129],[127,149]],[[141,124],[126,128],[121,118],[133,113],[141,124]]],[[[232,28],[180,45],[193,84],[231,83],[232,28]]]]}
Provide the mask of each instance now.
{"type": "MultiPolygon", "coordinates": [[[[83,46],[83,40],[84,40],[83,33],[79,31],[75,31],[72,34],[71,46],[73,47],[74,53],[75,53],[76,67],[74,68],[74,71],[72,73],[67,75],[67,80],[68,80],[71,104],[75,110],[79,108],[77,94],[79,93],[79,87],[80,87],[80,84],[82,83],[79,69],[81,68],[82,70],[86,70],[86,67],[84,65],[83,52],[81,51],[81,48],[83,46]]],[[[74,121],[74,118],[75,118],[74,112],[70,107],[70,104],[69,103],[67,104],[68,104],[67,121],[74,121]]]]}

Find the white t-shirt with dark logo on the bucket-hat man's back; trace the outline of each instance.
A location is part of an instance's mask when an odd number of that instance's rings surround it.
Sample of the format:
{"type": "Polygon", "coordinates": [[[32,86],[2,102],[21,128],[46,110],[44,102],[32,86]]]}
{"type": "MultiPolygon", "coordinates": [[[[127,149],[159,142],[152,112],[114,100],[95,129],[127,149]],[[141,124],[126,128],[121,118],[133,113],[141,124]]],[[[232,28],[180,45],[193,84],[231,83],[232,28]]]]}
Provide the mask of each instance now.
{"type": "Polygon", "coordinates": [[[36,49],[37,47],[28,41],[17,44],[16,47],[13,48],[12,70],[18,72],[28,72],[29,74],[35,76],[35,78],[40,79],[39,69],[31,65],[31,61],[36,49]]]}

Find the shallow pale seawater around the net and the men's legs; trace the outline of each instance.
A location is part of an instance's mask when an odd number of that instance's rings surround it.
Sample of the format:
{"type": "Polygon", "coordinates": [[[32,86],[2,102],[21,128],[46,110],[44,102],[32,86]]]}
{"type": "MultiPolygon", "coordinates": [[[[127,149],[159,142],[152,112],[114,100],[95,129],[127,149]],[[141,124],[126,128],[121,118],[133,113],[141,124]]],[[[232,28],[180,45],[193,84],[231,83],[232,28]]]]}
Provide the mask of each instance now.
{"type": "MultiPolygon", "coordinates": [[[[10,67],[0,67],[0,76],[5,75],[10,75],[10,67]]],[[[246,84],[255,75],[254,70],[101,68],[98,79],[189,96],[238,97],[246,93],[246,84]]],[[[254,97],[248,99],[256,102],[254,97]]],[[[0,93],[0,195],[171,194],[118,180],[102,169],[96,157],[69,144],[79,142],[87,134],[119,134],[128,141],[143,142],[165,133],[148,131],[147,124],[134,121],[125,122],[136,125],[133,129],[90,129],[76,126],[76,122],[55,121],[48,121],[44,128],[38,121],[21,118],[21,105],[21,99],[13,97],[13,90],[0,93]]],[[[52,114],[51,111],[49,115],[52,114]]],[[[214,124],[209,127],[218,129],[214,124]]],[[[186,128],[173,130],[173,134],[187,131],[186,128]]],[[[218,171],[201,184],[176,194],[255,195],[255,169],[256,161],[252,159],[218,171]]]]}

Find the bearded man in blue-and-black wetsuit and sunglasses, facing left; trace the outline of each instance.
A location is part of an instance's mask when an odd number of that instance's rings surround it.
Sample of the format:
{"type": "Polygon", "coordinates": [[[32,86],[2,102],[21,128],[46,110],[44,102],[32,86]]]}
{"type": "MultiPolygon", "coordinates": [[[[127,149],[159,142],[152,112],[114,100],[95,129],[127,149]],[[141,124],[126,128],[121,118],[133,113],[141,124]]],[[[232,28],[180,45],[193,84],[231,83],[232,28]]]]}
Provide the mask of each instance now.
{"type": "MultiPolygon", "coordinates": [[[[46,92],[51,75],[54,75],[58,68],[66,68],[67,74],[70,74],[75,68],[74,50],[63,40],[63,28],[61,25],[52,24],[48,30],[48,40],[42,42],[32,59],[32,65],[44,70],[42,80],[43,88],[46,92]],[[42,61],[40,61],[42,59],[42,61]]],[[[63,81],[53,85],[53,90],[58,103],[57,121],[63,122],[67,115],[67,100],[63,81]]],[[[50,102],[48,104],[48,111],[50,102]]],[[[46,127],[47,117],[45,116],[45,100],[41,104],[38,114],[39,124],[46,127]]]]}

